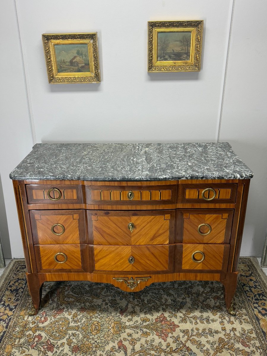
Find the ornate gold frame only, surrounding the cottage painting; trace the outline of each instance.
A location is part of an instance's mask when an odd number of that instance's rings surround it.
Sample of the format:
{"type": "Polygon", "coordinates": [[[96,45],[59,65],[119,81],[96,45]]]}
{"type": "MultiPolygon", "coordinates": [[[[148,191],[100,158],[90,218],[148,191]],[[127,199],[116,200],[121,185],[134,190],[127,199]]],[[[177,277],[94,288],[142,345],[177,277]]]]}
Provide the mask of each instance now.
{"type": "Polygon", "coordinates": [[[69,84],[69,83],[100,83],[99,59],[97,32],[91,33],[44,33],[42,35],[43,49],[45,51],[46,68],[48,82],[50,84],[69,84]],[[58,73],[56,44],[78,44],[88,45],[90,72],[67,72],[58,73]]]}

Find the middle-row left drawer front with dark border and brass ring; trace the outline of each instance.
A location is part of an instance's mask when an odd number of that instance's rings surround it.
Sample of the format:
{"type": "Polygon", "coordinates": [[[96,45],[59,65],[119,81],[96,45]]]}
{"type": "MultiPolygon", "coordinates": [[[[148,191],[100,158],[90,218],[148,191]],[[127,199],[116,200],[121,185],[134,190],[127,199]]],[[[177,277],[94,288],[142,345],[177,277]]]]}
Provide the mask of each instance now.
{"type": "Polygon", "coordinates": [[[84,216],[84,210],[31,210],[33,242],[38,245],[86,242],[84,216]],[[55,235],[52,227],[61,235],[55,235]]]}

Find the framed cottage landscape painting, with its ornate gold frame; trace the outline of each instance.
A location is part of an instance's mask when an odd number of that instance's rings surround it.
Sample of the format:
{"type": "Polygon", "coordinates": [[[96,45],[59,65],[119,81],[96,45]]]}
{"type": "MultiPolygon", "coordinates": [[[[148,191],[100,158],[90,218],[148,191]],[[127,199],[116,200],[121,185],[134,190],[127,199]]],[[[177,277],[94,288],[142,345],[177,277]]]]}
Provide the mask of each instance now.
{"type": "Polygon", "coordinates": [[[50,84],[100,83],[97,32],[44,33],[50,84]]]}

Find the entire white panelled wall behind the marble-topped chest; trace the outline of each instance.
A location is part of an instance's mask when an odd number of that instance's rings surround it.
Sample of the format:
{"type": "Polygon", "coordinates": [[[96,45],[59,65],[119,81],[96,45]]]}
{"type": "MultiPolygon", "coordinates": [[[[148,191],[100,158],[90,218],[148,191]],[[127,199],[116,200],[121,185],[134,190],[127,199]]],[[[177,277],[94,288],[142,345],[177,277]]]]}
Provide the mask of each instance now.
{"type": "MultiPolygon", "coordinates": [[[[216,140],[231,0],[16,1],[37,142],[216,140]],[[148,74],[147,21],[183,19],[204,20],[201,71],[148,74]],[[41,34],[90,31],[98,31],[102,82],[48,84],[41,34]]],[[[1,51],[10,67],[2,72],[1,87],[0,208],[6,219],[0,219],[0,230],[7,253],[10,237],[12,257],[23,257],[8,175],[32,140],[13,1],[1,10],[1,51]]],[[[229,141],[255,172],[243,256],[261,254],[266,229],[266,10],[263,0],[235,0],[221,121],[220,141],[229,141]]]]}

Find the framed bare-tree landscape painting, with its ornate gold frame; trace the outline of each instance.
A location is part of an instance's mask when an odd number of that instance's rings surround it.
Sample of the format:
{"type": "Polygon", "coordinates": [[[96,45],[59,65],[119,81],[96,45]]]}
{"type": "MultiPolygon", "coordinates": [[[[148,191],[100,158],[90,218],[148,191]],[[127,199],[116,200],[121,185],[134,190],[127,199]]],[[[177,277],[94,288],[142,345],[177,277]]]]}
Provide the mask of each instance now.
{"type": "Polygon", "coordinates": [[[148,21],[148,69],[199,72],[203,20],[148,21]]]}

